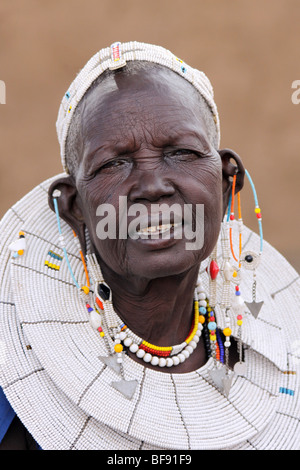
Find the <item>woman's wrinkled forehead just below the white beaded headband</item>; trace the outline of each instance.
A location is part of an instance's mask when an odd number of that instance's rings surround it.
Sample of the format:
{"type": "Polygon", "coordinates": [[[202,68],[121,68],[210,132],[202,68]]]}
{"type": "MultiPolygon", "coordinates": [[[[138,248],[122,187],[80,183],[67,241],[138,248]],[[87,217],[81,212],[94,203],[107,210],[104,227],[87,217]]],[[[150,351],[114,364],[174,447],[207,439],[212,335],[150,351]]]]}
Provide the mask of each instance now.
{"type": "Polygon", "coordinates": [[[145,114],[161,122],[165,115],[170,126],[174,119],[198,117],[205,121],[204,114],[212,120],[211,111],[201,102],[194,87],[163,67],[108,73],[89,90],[83,101],[83,136],[95,126],[99,127],[100,122],[104,127],[110,126],[112,121],[115,126],[128,125],[128,122],[132,126],[142,125],[145,114]]]}

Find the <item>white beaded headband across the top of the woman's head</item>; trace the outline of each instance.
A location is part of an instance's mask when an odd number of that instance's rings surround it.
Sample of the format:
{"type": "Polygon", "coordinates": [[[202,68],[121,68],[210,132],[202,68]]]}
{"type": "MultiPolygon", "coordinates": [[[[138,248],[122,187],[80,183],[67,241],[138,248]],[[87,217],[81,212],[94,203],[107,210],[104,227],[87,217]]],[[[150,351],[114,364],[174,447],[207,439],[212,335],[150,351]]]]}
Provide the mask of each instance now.
{"type": "Polygon", "coordinates": [[[214,102],[213,88],[209,79],[203,72],[194,69],[178,59],[167,49],[140,42],[116,42],[110,47],[97,52],[78,73],[75,80],[65,93],[58,112],[56,129],[60,144],[61,160],[64,171],[68,172],[65,155],[65,143],[70,122],[76,106],[89,89],[91,84],[105,70],[114,70],[124,67],[127,61],[148,61],[164,65],[188,80],[205,99],[212,111],[216,124],[217,145],[220,143],[220,122],[216,104],[214,102]]]}

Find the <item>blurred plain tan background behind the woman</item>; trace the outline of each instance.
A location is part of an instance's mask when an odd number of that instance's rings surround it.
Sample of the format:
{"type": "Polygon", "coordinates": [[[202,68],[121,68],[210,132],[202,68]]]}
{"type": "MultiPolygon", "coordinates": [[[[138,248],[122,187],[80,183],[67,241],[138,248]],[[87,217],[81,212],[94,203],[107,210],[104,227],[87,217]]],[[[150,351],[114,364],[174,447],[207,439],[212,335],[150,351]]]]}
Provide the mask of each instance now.
{"type": "MultiPolygon", "coordinates": [[[[61,172],[55,121],[77,72],[114,41],[162,45],[214,86],[222,147],[251,173],[265,239],[300,271],[299,0],[1,0],[0,216],[61,172]]],[[[257,230],[249,186],[244,222],[257,230]]]]}

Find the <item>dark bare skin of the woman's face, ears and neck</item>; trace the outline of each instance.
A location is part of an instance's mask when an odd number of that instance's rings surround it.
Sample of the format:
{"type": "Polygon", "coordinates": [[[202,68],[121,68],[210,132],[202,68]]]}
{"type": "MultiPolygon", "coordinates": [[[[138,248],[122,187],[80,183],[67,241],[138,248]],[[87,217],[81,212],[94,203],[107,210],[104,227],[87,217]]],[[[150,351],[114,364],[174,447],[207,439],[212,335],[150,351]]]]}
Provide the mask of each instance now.
{"type": "MultiPolygon", "coordinates": [[[[85,100],[80,144],[78,171],[52,184],[50,206],[52,192],[59,189],[60,215],[77,233],[83,251],[88,228],[122,320],[156,345],[181,343],[192,323],[199,267],[217,242],[234,174],[236,191],[243,186],[239,156],[213,148],[194,90],[167,69],[118,73],[95,88],[85,100]],[[204,204],[203,247],[186,250],[185,238],[166,244],[100,240],[97,207],[109,203],[118,214],[119,196],[127,197],[128,208],[141,203],[149,212],[152,204],[204,204]]],[[[237,356],[232,349],[233,365],[237,356]]],[[[138,360],[135,355],[133,359],[138,360]]],[[[200,340],[172,372],[196,370],[206,360],[200,340]]]]}

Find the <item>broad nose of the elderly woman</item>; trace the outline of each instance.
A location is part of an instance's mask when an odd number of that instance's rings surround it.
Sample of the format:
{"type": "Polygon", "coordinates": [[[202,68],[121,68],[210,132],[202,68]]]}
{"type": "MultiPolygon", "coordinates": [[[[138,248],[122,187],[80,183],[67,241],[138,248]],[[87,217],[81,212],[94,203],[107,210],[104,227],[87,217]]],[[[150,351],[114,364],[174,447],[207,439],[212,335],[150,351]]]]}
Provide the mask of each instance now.
{"type": "Polygon", "coordinates": [[[161,168],[137,170],[132,178],[133,185],[128,195],[132,202],[142,199],[154,202],[175,193],[174,185],[161,168]]]}

